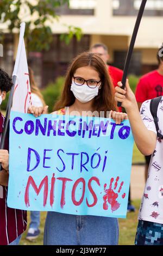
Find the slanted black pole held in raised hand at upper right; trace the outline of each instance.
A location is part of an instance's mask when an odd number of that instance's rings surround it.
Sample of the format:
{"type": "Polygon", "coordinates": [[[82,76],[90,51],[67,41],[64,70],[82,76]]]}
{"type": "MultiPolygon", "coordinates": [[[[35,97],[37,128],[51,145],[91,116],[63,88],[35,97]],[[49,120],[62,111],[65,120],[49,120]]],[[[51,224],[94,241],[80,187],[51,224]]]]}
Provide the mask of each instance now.
{"type": "MultiPolygon", "coordinates": [[[[130,64],[131,56],[132,56],[132,53],[133,53],[133,50],[134,50],[134,45],[135,45],[137,32],[139,30],[140,22],[141,22],[141,19],[142,19],[143,12],[145,10],[146,3],[147,3],[147,0],[142,0],[141,5],[140,5],[140,9],[139,9],[139,13],[137,15],[133,35],[131,37],[130,46],[129,46],[127,57],[126,57],[126,62],[124,64],[123,77],[122,77],[122,87],[121,87],[122,89],[124,89],[124,87],[126,85],[129,64],[130,64]]],[[[122,105],[121,102],[117,103],[117,107],[121,107],[121,105],[122,105]]]]}

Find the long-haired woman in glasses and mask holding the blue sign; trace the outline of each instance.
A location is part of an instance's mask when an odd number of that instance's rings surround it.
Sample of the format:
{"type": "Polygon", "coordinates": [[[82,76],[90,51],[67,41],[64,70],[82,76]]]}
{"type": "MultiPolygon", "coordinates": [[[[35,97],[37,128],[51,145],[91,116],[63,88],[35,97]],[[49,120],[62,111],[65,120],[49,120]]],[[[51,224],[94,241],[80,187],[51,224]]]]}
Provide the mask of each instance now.
{"type": "MultiPolygon", "coordinates": [[[[114,114],[116,123],[126,114],[116,113],[113,86],[103,60],[94,53],[85,52],[73,60],[67,71],[64,90],[55,109],[59,114],[97,115],[114,114]],[[65,107],[68,107],[65,111],[65,107]],[[114,113],[113,113],[114,111],[114,113]]],[[[35,117],[46,108],[30,107],[35,117]]],[[[53,112],[56,113],[56,112],[53,112]]],[[[117,245],[116,218],[76,216],[48,212],[44,245],[117,245]]]]}

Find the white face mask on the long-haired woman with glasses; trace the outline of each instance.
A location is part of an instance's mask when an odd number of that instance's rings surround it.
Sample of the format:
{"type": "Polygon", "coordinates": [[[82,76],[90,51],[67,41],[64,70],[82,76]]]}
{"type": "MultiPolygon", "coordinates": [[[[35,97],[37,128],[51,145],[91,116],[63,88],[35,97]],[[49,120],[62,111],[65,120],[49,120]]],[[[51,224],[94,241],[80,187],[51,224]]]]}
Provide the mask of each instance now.
{"type": "Polygon", "coordinates": [[[74,82],[71,84],[71,91],[73,95],[82,103],[89,102],[98,95],[99,86],[96,88],[90,88],[86,84],[83,86],[77,86],[74,82]]]}

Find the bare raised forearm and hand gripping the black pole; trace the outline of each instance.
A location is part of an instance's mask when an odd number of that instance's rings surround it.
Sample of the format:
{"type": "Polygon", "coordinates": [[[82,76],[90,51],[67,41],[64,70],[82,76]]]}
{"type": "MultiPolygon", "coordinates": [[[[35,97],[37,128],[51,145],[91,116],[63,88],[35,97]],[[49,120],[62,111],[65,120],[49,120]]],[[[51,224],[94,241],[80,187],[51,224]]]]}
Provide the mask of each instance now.
{"type": "Polygon", "coordinates": [[[122,102],[122,107],[126,108],[137,148],[143,155],[151,155],[156,146],[156,132],[149,131],[143,123],[135,95],[129,87],[128,80],[126,90],[120,88],[122,86],[121,82],[118,83],[118,86],[115,88],[115,100],[122,102]]]}

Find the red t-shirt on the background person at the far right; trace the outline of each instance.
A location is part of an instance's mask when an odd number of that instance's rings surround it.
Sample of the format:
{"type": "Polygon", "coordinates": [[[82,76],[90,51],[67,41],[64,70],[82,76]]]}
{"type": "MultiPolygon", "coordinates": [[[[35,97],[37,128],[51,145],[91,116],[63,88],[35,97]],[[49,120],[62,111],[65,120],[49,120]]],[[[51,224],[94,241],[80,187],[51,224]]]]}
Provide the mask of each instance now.
{"type": "Polygon", "coordinates": [[[157,70],[142,76],[136,87],[137,102],[144,102],[163,95],[163,76],[157,70]]]}

